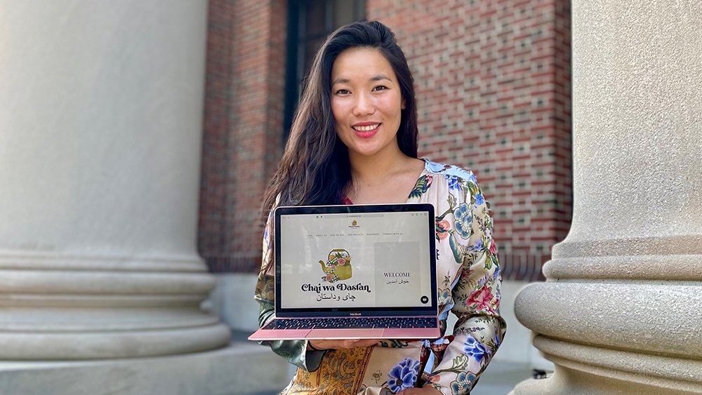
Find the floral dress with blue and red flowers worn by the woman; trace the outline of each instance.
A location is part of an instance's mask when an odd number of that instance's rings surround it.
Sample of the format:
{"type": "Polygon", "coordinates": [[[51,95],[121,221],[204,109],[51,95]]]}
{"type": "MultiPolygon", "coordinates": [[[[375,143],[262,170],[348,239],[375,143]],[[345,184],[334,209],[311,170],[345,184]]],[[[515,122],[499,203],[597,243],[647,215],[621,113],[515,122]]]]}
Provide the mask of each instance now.
{"type": "MultiPolygon", "coordinates": [[[[475,175],[425,160],[407,202],[435,207],[442,337],[381,340],[372,347],[326,352],[307,351],[305,340],[263,342],[298,366],[282,394],[397,394],[426,385],[443,394],[468,394],[494,356],[506,328],[498,311],[501,277],[489,208],[475,175]],[[452,334],[445,335],[449,312],[458,321],[452,334]]],[[[267,230],[264,261],[270,248],[267,230]]],[[[275,297],[274,279],[264,270],[255,297],[263,326],[273,318],[275,297]]]]}

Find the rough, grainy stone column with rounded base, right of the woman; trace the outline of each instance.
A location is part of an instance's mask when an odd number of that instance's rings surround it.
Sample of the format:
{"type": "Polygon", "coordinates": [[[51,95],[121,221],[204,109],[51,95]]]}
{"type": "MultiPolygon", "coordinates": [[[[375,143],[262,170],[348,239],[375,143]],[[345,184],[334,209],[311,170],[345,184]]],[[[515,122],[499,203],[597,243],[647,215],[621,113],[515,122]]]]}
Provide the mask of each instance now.
{"type": "Polygon", "coordinates": [[[573,1],[574,217],[512,394],[702,393],[702,3],[573,1]]]}

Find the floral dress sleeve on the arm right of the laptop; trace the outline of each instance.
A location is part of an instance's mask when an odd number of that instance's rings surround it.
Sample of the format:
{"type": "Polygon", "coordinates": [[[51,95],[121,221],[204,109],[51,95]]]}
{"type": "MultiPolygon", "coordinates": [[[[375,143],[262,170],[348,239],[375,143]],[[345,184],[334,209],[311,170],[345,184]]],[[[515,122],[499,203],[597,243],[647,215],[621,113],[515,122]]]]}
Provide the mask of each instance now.
{"type": "Polygon", "coordinates": [[[506,325],[499,315],[501,277],[489,208],[475,176],[452,170],[445,174],[446,200],[437,207],[437,241],[444,246],[437,252],[452,254],[457,271],[444,276],[444,288],[439,284],[439,304],[444,318],[450,309],[458,321],[425,385],[457,395],[470,392],[502,342],[506,325]]]}

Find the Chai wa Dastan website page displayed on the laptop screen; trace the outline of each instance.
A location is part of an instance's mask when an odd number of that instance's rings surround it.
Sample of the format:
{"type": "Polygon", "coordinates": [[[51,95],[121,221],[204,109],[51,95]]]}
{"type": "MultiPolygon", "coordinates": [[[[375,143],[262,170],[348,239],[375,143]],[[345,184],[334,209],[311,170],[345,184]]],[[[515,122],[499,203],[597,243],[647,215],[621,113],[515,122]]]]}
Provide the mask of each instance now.
{"type": "Polygon", "coordinates": [[[427,215],[282,215],[281,307],[429,306],[427,215]]]}

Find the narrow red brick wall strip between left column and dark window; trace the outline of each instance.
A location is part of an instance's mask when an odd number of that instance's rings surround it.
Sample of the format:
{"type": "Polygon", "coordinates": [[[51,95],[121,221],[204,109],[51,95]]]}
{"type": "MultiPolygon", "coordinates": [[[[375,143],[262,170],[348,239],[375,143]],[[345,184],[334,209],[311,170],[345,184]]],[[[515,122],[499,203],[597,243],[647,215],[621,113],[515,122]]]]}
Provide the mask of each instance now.
{"type": "Polygon", "coordinates": [[[282,154],[287,1],[211,0],[199,253],[213,272],[260,267],[260,202],[282,154]]]}

